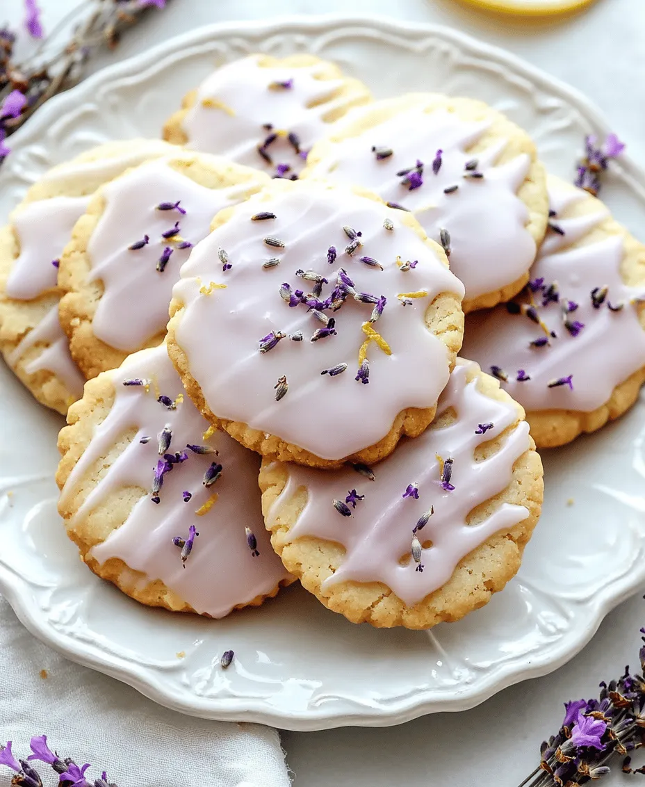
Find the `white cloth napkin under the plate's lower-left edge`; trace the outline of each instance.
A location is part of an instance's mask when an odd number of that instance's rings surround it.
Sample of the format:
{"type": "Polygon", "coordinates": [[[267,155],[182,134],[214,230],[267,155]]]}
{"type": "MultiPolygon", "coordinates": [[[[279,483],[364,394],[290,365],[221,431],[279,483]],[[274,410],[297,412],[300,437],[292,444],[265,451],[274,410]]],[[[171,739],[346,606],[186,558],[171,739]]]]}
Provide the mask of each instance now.
{"type": "MultiPolygon", "coordinates": [[[[120,787],[289,787],[278,731],[260,724],[191,719],[135,689],[66,660],[32,637],[0,598],[0,742],[26,757],[45,734],[61,757],[106,770],[120,787]],[[41,672],[46,671],[46,672],[41,672]],[[41,677],[41,675],[45,675],[41,677]]],[[[57,776],[44,763],[43,784],[57,776]]],[[[0,785],[12,772],[0,767],[0,785]]]]}

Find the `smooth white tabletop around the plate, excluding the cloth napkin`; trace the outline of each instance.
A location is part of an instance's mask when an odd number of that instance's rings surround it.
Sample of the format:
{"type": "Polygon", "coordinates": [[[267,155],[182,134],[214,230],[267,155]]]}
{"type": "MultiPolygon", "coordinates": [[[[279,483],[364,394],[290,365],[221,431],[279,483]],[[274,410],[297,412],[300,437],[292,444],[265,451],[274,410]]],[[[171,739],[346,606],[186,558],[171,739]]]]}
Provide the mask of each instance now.
{"type": "MultiPolygon", "coordinates": [[[[0,20],[19,20],[21,5],[20,0],[0,0],[0,20]]],[[[40,0],[40,5],[50,28],[77,0],[40,0]]],[[[588,94],[628,143],[632,156],[645,164],[643,0],[597,0],[586,13],[539,24],[477,13],[455,0],[170,0],[167,9],[151,12],[145,28],[131,31],[115,53],[98,57],[92,68],[217,20],[332,12],[447,24],[503,46],[588,94]]],[[[592,642],[565,667],[507,689],[472,711],[381,730],[284,733],[295,783],[514,787],[533,770],[542,738],[561,722],[562,702],[594,695],[601,679],[609,680],[625,663],[636,662],[643,623],[645,601],[638,596],[611,613],[592,642]]],[[[602,783],[616,787],[625,780],[628,777],[616,773],[602,783]]]]}

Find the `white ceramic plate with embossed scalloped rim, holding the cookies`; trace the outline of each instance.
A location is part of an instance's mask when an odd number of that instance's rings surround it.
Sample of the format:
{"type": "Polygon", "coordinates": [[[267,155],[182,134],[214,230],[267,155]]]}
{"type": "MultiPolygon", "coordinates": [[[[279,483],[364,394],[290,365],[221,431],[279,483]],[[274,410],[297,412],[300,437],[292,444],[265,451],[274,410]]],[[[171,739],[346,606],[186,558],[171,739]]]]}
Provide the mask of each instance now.
{"type": "MultiPolygon", "coordinates": [[[[527,128],[549,168],[566,178],[584,135],[609,131],[580,95],[447,28],[328,17],[225,24],[106,68],[48,102],[12,138],[0,174],[2,216],[28,183],[79,150],[158,135],[215,63],[256,50],[328,57],[379,97],[435,90],[484,99],[527,128]]],[[[645,175],[625,159],[603,195],[637,231],[645,175]]],[[[139,606],[90,574],[63,534],[53,482],[61,419],[6,368],[0,393],[0,590],[42,640],[184,713],[319,730],[470,708],[570,659],[645,582],[643,402],[544,456],[542,520],[503,593],[460,623],[412,632],[353,626],[300,587],[219,622],[139,606]],[[224,673],[219,654],[227,648],[236,658],[224,673]]]]}

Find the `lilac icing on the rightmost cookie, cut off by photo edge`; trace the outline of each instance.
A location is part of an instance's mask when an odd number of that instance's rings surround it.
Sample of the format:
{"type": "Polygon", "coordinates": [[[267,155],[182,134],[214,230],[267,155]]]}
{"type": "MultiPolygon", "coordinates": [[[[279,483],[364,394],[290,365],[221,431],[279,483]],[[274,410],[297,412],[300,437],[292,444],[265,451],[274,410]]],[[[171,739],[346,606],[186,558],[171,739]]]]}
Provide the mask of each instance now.
{"type": "MultiPolygon", "coordinates": [[[[570,246],[588,235],[608,211],[604,208],[582,216],[567,216],[569,207],[589,199],[558,179],[549,179],[551,222],[564,232],[551,230],[531,269],[531,279],[544,279],[544,285],[558,283],[559,300],[542,306],[543,292],[533,295],[540,319],[557,338],[550,344],[532,347],[530,342],[543,337],[544,331],[527,316],[511,315],[506,307],[477,312],[466,320],[463,352],[488,371],[499,366],[509,375],[502,385],[526,410],[568,409],[591,412],[610,399],[614,388],[645,365],[645,331],[630,299],[643,294],[628,287],[621,277],[625,256],[622,235],[605,235],[583,246],[570,246]],[[592,305],[591,292],[607,286],[606,300],[598,309],[592,305]],[[574,301],[578,308],[569,312],[570,321],[584,324],[576,336],[563,323],[562,304],[574,301]],[[624,303],[612,312],[608,303],[624,303]],[[518,381],[518,370],[530,379],[518,381]],[[573,375],[571,384],[548,387],[547,383],[573,375]]],[[[645,282],[643,283],[645,285],[645,282]]]]}

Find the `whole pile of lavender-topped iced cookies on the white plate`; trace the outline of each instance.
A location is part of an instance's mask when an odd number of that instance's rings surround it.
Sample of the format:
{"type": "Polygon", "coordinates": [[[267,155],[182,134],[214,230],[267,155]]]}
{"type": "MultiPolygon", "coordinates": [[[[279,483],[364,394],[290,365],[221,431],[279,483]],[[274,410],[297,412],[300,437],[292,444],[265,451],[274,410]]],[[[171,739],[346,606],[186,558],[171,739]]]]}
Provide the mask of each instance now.
{"type": "Polygon", "coordinates": [[[311,56],[224,65],[164,138],[0,231],[0,349],[68,413],[83,560],[213,618],[295,579],[374,626],[481,607],[540,515],[533,441],[636,399],[643,247],[487,105],[311,56]]]}

